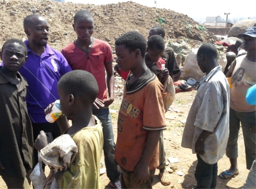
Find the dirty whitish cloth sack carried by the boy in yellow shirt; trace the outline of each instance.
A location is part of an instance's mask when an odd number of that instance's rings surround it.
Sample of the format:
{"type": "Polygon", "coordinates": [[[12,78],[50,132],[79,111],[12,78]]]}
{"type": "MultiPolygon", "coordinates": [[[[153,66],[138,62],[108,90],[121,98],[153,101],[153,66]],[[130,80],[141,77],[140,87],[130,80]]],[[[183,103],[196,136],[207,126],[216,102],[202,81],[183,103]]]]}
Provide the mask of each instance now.
{"type": "Polygon", "coordinates": [[[42,162],[53,167],[55,171],[66,171],[72,164],[77,154],[77,146],[69,134],[57,137],[52,143],[40,150],[39,163],[30,174],[30,179],[35,189],[59,188],[50,171],[46,178],[42,170],[42,162]]]}

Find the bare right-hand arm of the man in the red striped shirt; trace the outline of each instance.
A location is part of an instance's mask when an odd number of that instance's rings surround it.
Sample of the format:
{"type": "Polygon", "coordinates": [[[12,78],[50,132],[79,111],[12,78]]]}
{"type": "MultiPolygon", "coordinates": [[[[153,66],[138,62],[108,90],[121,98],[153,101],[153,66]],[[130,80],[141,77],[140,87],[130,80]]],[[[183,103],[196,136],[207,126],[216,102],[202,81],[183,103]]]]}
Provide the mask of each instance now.
{"type": "Polygon", "coordinates": [[[108,107],[114,102],[114,74],[112,69],[112,62],[108,62],[105,64],[106,72],[107,72],[107,87],[109,92],[109,98],[104,100],[105,107],[108,107]]]}

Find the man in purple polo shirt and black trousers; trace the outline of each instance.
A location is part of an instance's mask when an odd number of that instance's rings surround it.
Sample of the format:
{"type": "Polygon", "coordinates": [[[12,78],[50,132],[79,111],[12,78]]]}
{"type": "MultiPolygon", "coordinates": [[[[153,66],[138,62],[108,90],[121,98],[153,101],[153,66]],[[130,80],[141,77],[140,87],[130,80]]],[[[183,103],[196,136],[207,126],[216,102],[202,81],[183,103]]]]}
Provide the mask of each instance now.
{"type": "MultiPolygon", "coordinates": [[[[28,49],[26,64],[19,69],[26,78],[27,107],[33,127],[33,138],[36,140],[41,130],[51,132],[53,138],[61,135],[56,122],[49,123],[45,119],[44,109],[56,99],[57,82],[61,76],[71,71],[64,56],[51,48],[48,42],[49,25],[40,15],[29,15],[24,19],[24,30],[28,40],[24,43],[28,49]]],[[[38,162],[38,153],[34,149],[34,166],[38,162]]]]}

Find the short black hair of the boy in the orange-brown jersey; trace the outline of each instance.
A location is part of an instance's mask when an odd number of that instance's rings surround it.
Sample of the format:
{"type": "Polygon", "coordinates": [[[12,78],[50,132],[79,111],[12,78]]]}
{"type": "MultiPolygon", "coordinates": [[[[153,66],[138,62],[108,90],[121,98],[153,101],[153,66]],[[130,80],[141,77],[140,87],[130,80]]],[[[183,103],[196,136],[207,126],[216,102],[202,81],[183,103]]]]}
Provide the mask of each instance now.
{"type": "Polygon", "coordinates": [[[147,41],[145,37],[137,31],[129,31],[124,33],[118,37],[117,40],[115,40],[115,45],[124,45],[125,48],[128,48],[130,52],[139,49],[143,58],[147,49],[147,41]]]}

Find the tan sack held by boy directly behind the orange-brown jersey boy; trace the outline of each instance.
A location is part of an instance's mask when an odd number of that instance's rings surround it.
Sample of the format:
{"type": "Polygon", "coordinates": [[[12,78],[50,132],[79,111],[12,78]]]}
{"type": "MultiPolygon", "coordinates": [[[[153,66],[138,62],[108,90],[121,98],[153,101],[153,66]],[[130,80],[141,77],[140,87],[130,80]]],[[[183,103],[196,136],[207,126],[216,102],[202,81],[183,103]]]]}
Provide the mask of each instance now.
{"type": "Polygon", "coordinates": [[[164,93],[167,93],[165,98],[165,112],[167,112],[175,97],[175,88],[170,75],[164,82],[164,93]]]}

